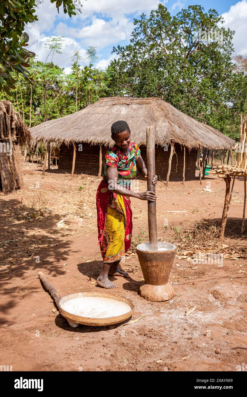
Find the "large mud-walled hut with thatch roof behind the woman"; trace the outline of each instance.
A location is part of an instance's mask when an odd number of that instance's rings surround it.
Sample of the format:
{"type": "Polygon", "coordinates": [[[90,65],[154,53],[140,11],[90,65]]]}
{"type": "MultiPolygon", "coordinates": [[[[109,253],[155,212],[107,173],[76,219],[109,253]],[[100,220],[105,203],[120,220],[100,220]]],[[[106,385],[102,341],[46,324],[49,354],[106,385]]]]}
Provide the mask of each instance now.
{"type": "Polygon", "coordinates": [[[75,172],[97,175],[101,174],[104,152],[113,145],[111,124],[117,120],[125,120],[130,126],[131,139],[140,146],[144,161],[146,128],[155,127],[156,173],[162,179],[169,168],[169,145],[176,154],[172,157],[171,179],[181,179],[183,173],[186,179],[195,176],[199,148],[230,150],[234,147],[234,141],[226,135],[159,98],[100,98],[77,113],[36,125],[31,133],[36,141],[61,145],[59,168],[71,168],[73,158],[75,172]],[[82,144],[81,152],[79,144],[82,144]]]}

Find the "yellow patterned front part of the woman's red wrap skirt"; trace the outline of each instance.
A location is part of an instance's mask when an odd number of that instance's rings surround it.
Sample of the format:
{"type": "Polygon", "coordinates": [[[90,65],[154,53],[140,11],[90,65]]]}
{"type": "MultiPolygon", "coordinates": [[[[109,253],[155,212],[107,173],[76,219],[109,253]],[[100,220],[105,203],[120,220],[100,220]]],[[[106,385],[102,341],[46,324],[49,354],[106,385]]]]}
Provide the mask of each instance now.
{"type": "Polygon", "coordinates": [[[125,255],[124,234],[126,228],[126,212],[123,196],[112,197],[107,206],[105,231],[101,244],[104,262],[121,260],[125,255]]]}

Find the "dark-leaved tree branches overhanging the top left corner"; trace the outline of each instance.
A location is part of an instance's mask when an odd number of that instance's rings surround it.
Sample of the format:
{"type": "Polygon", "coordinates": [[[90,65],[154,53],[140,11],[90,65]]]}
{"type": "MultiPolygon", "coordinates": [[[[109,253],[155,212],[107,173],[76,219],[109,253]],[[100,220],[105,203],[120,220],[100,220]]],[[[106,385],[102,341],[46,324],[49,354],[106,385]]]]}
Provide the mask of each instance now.
{"type": "MultiPolygon", "coordinates": [[[[50,0],[52,3],[55,0],[50,0]]],[[[71,17],[80,12],[80,0],[56,0],[56,8],[71,17]]],[[[19,75],[31,84],[29,60],[35,56],[27,50],[29,36],[24,33],[25,25],[37,21],[35,0],[0,0],[0,91],[11,95],[19,75]]]]}

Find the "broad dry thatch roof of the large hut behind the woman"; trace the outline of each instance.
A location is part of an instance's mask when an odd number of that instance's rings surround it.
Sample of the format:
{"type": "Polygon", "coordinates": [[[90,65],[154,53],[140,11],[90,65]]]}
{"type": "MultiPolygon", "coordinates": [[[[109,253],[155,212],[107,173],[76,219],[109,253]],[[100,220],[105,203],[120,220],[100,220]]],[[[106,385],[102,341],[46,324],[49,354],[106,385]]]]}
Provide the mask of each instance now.
{"type": "Polygon", "coordinates": [[[192,148],[230,149],[234,141],[180,112],[159,98],[100,98],[77,113],[45,121],[31,129],[36,141],[56,143],[86,142],[110,146],[111,124],[125,120],[132,141],[146,145],[146,128],[155,127],[155,143],[164,146],[171,141],[192,148]]]}

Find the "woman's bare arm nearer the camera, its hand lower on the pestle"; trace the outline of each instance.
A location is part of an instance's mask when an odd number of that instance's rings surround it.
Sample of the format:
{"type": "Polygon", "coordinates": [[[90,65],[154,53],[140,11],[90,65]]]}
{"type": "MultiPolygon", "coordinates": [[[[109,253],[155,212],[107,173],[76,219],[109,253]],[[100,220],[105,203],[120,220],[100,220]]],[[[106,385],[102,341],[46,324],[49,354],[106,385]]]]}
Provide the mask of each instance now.
{"type": "Polygon", "coordinates": [[[136,193],[133,192],[132,190],[128,190],[125,187],[119,185],[117,183],[117,179],[118,179],[117,168],[115,167],[107,166],[106,176],[108,182],[108,189],[113,191],[114,193],[117,193],[118,195],[136,197],[136,198],[140,198],[140,200],[149,200],[149,201],[156,200],[156,195],[154,192],[146,191],[142,193],[136,193]]]}

